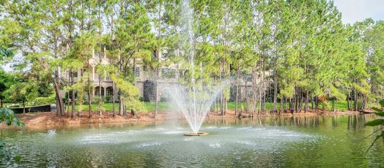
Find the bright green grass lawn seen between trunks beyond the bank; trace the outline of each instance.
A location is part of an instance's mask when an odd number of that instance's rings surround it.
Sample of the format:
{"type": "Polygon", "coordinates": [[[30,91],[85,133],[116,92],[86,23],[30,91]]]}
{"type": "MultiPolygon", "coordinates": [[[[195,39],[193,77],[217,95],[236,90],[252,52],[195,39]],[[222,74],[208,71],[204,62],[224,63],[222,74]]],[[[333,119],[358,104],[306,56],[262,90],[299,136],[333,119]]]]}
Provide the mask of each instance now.
{"type": "MultiPolygon", "coordinates": [[[[245,105],[245,103],[242,103],[242,105],[243,105],[243,107],[244,107],[244,109],[246,108],[246,105],[245,105]]],[[[288,106],[288,103],[286,103],[286,105],[288,106]]],[[[93,111],[96,111],[96,110],[98,110],[98,105],[95,105],[95,104],[92,104],[91,105],[92,106],[92,110],[93,111]]],[[[265,109],[266,110],[271,110],[271,107],[273,106],[273,103],[266,103],[266,107],[265,107],[265,109]]],[[[78,110],[78,105],[76,105],[76,110],[78,110]]],[[[229,102],[228,103],[228,110],[234,110],[235,109],[235,107],[236,107],[236,103],[234,103],[234,102],[229,102]]],[[[238,109],[240,109],[240,107],[241,107],[241,105],[240,105],[240,103],[239,103],[239,105],[238,105],[238,109]]],[[[259,105],[256,105],[256,107],[259,107],[259,105]]],[[[311,103],[309,103],[309,107],[311,108],[311,103]]],[[[321,107],[323,107],[322,105],[319,105],[319,107],[321,108],[321,107]]],[[[332,107],[332,105],[331,105],[331,101],[328,101],[328,104],[327,104],[327,110],[331,110],[331,107],[332,107]]],[[[279,109],[280,108],[280,103],[278,103],[277,104],[277,109],[279,109]]],[[[105,110],[105,111],[112,111],[113,110],[113,105],[112,105],[112,103],[105,103],[104,105],[103,105],[103,109],[105,110]]],[[[169,107],[169,105],[167,104],[167,103],[159,103],[158,104],[158,109],[160,110],[160,111],[164,111],[164,110],[169,110],[170,109],[170,107],[169,107]]],[[[347,110],[348,108],[347,108],[347,103],[346,103],[346,101],[336,101],[335,102],[335,109],[336,110],[347,110]]],[[[88,111],[88,105],[83,105],[83,110],[84,111],[88,111]]],[[[115,103],[115,110],[117,111],[118,110],[118,103],[115,103]]],[[[155,103],[147,103],[147,102],[145,102],[144,103],[144,109],[143,110],[141,110],[140,112],[151,112],[151,111],[154,111],[155,110],[155,103]]]]}

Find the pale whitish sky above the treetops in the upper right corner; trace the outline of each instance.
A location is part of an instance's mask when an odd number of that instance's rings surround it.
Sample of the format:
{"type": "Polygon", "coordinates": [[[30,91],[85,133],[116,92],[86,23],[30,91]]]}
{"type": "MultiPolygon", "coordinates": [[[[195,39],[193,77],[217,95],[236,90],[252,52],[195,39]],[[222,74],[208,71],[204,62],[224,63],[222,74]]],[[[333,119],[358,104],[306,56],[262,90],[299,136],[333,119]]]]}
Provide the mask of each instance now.
{"type": "Polygon", "coordinates": [[[343,23],[355,23],[366,18],[384,21],[384,0],[334,0],[341,11],[343,23]]]}

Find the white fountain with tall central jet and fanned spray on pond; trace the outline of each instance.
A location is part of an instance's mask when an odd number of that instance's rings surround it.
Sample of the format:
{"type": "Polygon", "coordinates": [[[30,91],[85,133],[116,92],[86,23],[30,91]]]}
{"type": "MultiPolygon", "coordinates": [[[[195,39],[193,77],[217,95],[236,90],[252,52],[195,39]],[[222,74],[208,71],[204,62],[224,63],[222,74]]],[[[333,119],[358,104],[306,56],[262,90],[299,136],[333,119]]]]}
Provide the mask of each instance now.
{"type": "MultiPolygon", "coordinates": [[[[192,132],[187,132],[187,136],[202,136],[208,135],[207,132],[199,132],[199,129],[207,115],[210,107],[217,95],[222,92],[222,89],[227,84],[223,82],[219,85],[209,85],[207,83],[199,83],[197,87],[194,75],[194,31],[193,31],[193,10],[190,7],[189,0],[182,1],[182,30],[186,39],[185,46],[182,51],[185,51],[190,62],[190,85],[170,85],[168,94],[170,102],[176,105],[177,111],[181,112],[188,124],[192,128],[192,132]],[[203,86],[204,85],[204,86],[203,86]]],[[[202,71],[202,68],[199,69],[202,71]]]]}

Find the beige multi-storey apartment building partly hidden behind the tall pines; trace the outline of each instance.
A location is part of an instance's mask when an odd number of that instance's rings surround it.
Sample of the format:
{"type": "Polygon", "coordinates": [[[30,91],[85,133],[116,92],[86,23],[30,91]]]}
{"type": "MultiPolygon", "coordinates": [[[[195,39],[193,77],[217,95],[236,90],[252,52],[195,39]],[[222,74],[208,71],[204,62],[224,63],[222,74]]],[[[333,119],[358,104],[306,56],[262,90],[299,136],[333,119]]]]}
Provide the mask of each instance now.
{"type": "MultiPolygon", "coordinates": [[[[105,48],[104,48],[105,51],[105,48]]],[[[108,75],[103,75],[105,77],[100,76],[96,70],[96,66],[98,63],[101,63],[103,65],[108,65],[109,61],[108,58],[105,55],[106,52],[96,53],[93,52],[92,58],[89,59],[90,64],[90,82],[93,85],[93,93],[91,95],[99,96],[102,98],[113,96],[113,90],[115,90],[115,85],[113,83],[113,80],[110,79],[108,75]],[[101,56],[103,55],[103,56],[101,56]]],[[[155,53],[153,53],[155,56],[155,53]]],[[[161,61],[161,59],[160,59],[161,61]]],[[[82,73],[86,69],[78,69],[76,72],[73,72],[74,81],[77,82],[78,78],[82,75],[82,73]]],[[[168,84],[175,84],[178,83],[177,76],[180,75],[181,72],[177,72],[177,66],[176,65],[169,65],[167,67],[160,68],[159,71],[159,100],[162,100],[162,98],[167,98],[167,94],[165,93],[165,86],[168,84]]],[[[267,72],[267,74],[269,74],[267,72]]],[[[148,72],[147,70],[144,70],[144,68],[141,65],[137,65],[135,68],[135,75],[137,79],[136,87],[137,90],[140,92],[140,97],[142,97],[145,101],[155,101],[155,93],[156,93],[156,74],[153,72],[148,72]]],[[[181,74],[182,75],[182,74],[181,74]]],[[[69,73],[69,70],[63,70],[61,73],[62,78],[69,80],[71,74],[69,73]]],[[[252,94],[252,89],[254,85],[252,84],[252,75],[244,75],[239,80],[239,99],[244,99],[247,95],[252,94]]],[[[258,83],[259,80],[257,80],[258,83]]],[[[231,97],[232,100],[235,98],[235,92],[236,92],[236,83],[232,82],[231,87],[231,97]]],[[[260,86],[261,83],[258,85],[260,86]]],[[[264,84],[266,85],[266,84],[264,84]]],[[[66,93],[64,90],[61,92],[63,97],[65,97],[66,93]]],[[[88,94],[85,94],[85,98],[88,98],[88,94]]],[[[115,95],[115,100],[117,99],[117,95],[115,95]]]]}

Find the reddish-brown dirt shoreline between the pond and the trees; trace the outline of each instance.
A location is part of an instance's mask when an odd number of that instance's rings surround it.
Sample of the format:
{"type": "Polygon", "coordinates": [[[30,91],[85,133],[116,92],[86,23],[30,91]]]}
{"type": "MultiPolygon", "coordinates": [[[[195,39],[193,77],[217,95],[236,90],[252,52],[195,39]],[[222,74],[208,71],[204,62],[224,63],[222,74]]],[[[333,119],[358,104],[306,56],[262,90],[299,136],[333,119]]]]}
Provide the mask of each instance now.
{"type": "MultiPolygon", "coordinates": [[[[254,117],[291,117],[291,116],[316,116],[316,115],[356,115],[359,112],[347,111],[347,112],[329,112],[329,111],[317,111],[317,112],[282,112],[271,115],[270,112],[266,114],[254,115],[254,117]]],[[[154,113],[137,113],[135,116],[128,115],[115,115],[113,117],[112,112],[103,112],[103,115],[93,113],[92,117],[89,117],[88,112],[81,112],[81,117],[76,116],[71,119],[71,116],[57,116],[56,112],[41,112],[41,113],[27,113],[24,115],[16,115],[27,125],[27,127],[38,126],[52,126],[52,125],[84,125],[84,124],[102,124],[102,123],[151,123],[155,121],[166,120],[185,120],[182,115],[177,112],[158,112],[157,119],[154,118],[154,113]]],[[[251,117],[248,113],[243,113],[241,118],[251,117]]],[[[218,113],[209,113],[205,120],[218,120],[218,119],[234,119],[238,118],[238,115],[234,114],[234,111],[227,112],[226,115],[220,115],[218,113]]]]}

